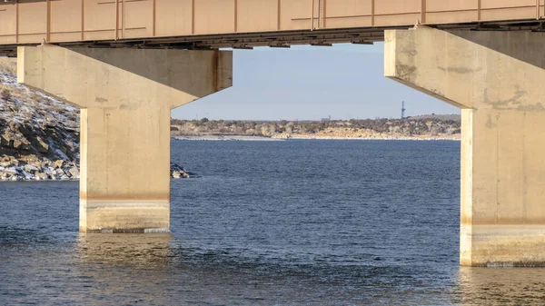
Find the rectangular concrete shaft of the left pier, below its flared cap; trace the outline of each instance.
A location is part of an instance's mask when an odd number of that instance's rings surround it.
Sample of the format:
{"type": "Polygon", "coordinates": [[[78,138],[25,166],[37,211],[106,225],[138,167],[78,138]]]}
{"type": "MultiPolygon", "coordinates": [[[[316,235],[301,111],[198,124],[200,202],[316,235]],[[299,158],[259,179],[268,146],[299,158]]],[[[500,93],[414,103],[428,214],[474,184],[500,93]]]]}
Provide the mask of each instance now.
{"type": "Polygon", "coordinates": [[[170,111],[81,111],[81,232],[169,228],[170,111]]]}

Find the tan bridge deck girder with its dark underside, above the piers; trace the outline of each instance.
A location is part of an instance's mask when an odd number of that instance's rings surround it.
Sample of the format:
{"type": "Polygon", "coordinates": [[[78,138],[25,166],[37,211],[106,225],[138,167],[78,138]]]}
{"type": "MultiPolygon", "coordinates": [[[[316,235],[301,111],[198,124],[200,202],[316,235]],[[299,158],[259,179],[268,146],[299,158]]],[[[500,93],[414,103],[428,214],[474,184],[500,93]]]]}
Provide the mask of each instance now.
{"type": "Polygon", "coordinates": [[[0,54],[17,45],[220,48],[372,43],[415,23],[541,30],[545,0],[2,0],[0,54]]]}

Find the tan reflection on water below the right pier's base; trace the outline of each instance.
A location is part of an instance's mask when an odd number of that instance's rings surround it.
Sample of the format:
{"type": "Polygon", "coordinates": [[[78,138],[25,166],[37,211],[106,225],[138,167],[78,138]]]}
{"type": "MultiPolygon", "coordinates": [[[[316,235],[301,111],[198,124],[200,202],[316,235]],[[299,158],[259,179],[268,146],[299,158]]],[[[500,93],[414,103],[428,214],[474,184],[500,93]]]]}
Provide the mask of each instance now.
{"type": "Polygon", "coordinates": [[[460,267],[458,282],[462,305],[545,304],[542,268],[460,267]]]}

